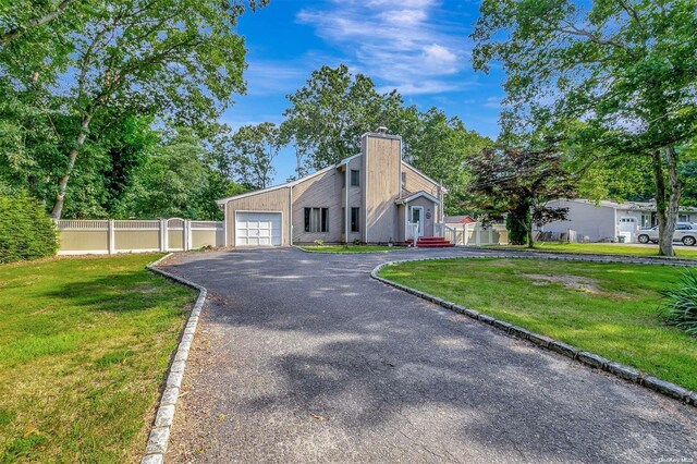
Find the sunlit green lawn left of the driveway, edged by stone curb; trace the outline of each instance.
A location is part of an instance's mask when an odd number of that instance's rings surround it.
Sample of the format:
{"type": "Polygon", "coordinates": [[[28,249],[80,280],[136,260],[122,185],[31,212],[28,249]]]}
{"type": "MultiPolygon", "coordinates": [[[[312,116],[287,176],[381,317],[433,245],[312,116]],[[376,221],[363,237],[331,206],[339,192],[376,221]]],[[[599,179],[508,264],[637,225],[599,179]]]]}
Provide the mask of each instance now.
{"type": "Polygon", "coordinates": [[[157,257],[0,266],[0,463],[139,460],[195,297],[157,257]]]}

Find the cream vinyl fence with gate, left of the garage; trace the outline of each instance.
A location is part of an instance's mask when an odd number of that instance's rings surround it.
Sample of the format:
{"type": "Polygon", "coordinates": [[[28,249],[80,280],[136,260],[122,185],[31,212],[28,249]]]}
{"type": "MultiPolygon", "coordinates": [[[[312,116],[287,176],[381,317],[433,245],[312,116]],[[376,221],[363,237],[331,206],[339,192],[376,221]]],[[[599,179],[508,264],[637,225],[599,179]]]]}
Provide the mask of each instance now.
{"type": "Polygon", "coordinates": [[[184,252],[224,246],[222,221],[61,220],[59,255],[112,255],[115,253],[184,252]]]}

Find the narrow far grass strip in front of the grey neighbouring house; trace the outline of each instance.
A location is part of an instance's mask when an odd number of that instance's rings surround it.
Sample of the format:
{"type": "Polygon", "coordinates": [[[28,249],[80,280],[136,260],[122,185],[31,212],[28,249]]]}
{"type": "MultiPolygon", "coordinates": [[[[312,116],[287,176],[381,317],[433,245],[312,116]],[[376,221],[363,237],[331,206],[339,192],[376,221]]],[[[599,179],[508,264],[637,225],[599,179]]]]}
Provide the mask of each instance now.
{"type": "MultiPolygon", "coordinates": [[[[515,245],[488,245],[487,248],[496,249],[523,249],[528,251],[525,246],[515,245]]],[[[658,256],[658,245],[615,245],[611,243],[551,243],[538,242],[535,244],[534,252],[554,252],[554,253],[582,253],[582,254],[601,254],[601,255],[631,255],[631,256],[658,256]]],[[[682,245],[675,246],[675,254],[678,258],[697,259],[697,247],[687,248],[682,245]]]]}

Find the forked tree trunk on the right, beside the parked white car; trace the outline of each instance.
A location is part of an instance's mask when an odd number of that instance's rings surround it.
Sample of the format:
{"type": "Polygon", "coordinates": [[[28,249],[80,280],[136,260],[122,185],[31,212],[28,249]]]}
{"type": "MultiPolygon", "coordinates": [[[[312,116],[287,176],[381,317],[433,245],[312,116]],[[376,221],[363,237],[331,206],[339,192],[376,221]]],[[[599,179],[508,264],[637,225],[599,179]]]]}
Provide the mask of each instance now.
{"type": "Polygon", "coordinates": [[[656,184],[656,218],[658,220],[658,254],[674,256],[673,235],[677,223],[680,208],[681,183],[677,173],[677,154],[673,147],[665,149],[668,164],[668,185],[663,172],[663,160],[659,150],[651,155],[653,166],[653,182],[656,184]],[[670,190],[670,192],[669,192],[670,190]]]}

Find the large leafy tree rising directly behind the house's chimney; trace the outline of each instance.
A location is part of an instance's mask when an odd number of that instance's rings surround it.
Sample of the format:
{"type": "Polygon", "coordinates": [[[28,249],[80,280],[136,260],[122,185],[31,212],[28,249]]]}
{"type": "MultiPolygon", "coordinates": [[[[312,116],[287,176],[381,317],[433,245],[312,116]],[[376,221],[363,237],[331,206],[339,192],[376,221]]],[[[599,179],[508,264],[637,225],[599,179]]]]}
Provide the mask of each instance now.
{"type": "Polygon", "coordinates": [[[344,64],[314,71],[304,87],[289,95],[285,127],[307,163],[322,169],[360,151],[360,135],[384,125],[394,129],[402,97],[379,94],[372,81],[344,64]]]}

